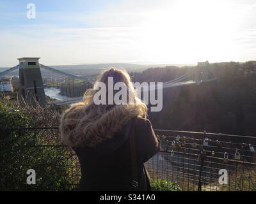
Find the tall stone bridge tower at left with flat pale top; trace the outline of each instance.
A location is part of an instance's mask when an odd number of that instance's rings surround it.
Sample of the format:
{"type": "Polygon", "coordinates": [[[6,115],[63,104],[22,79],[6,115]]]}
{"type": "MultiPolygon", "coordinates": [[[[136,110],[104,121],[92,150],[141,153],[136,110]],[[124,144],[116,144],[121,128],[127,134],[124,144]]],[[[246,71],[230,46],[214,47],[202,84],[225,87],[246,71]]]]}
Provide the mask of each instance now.
{"type": "Polygon", "coordinates": [[[44,84],[38,60],[40,57],[19,58],[19,96],[31,106],[45,107],[44,84]]]}

